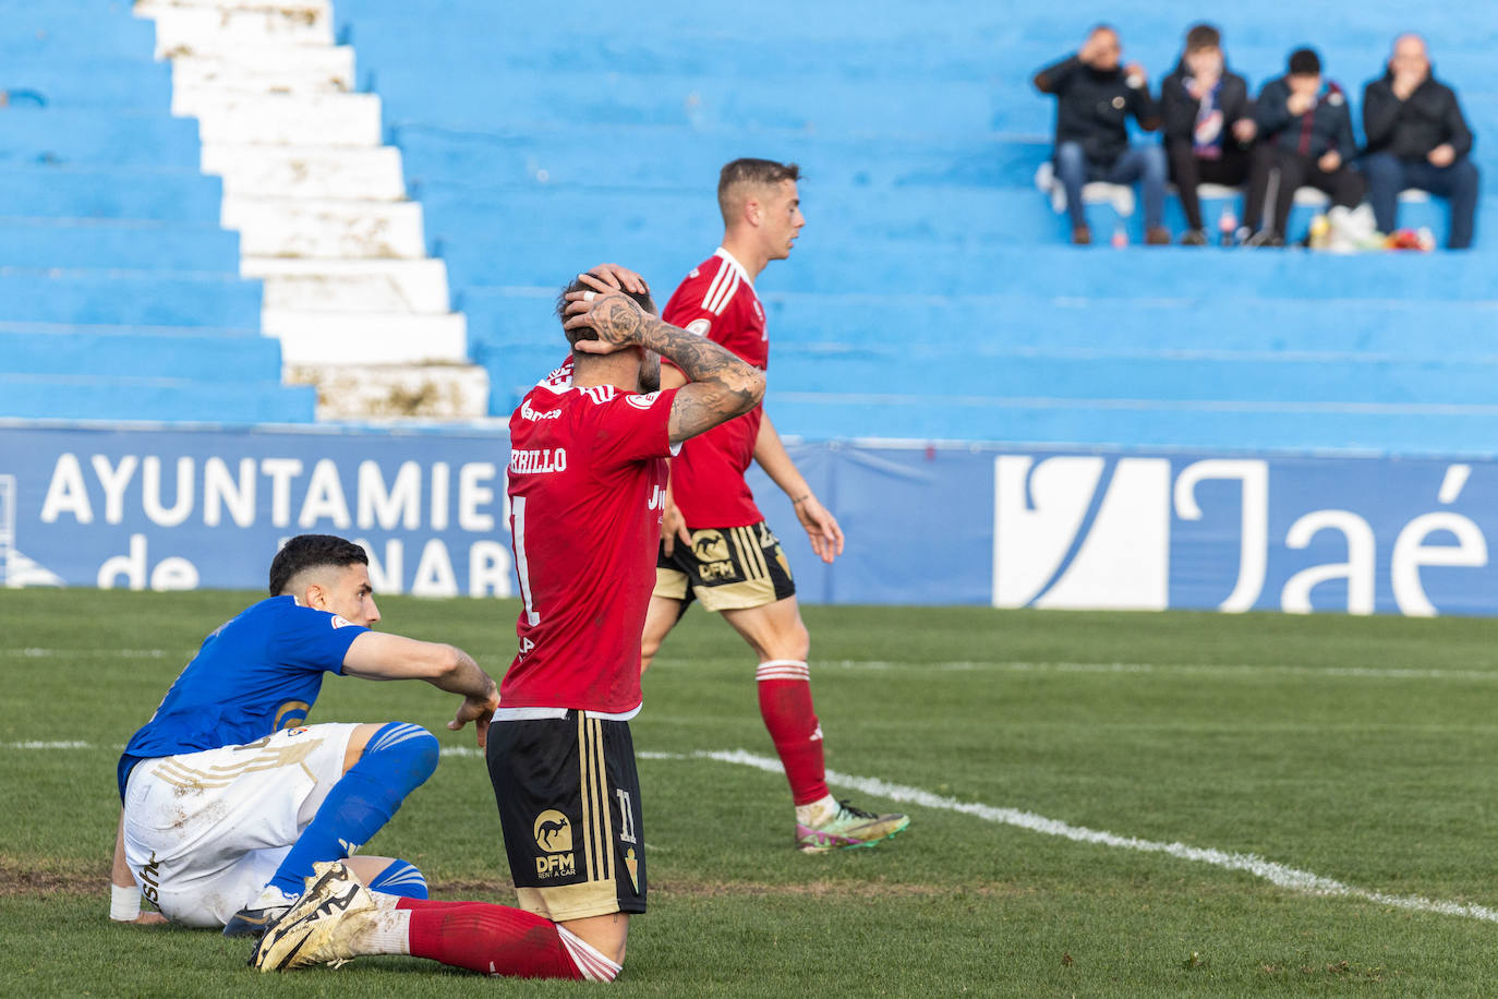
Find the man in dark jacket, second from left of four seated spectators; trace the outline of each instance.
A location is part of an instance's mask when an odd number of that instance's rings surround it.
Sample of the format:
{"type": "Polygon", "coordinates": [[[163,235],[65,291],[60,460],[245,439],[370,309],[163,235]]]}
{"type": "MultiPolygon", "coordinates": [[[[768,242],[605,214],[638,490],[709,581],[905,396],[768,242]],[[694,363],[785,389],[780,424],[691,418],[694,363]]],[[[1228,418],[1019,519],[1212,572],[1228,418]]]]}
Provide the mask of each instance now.
{"type": "Polygon", "coordinates": [[[1237,187],[1248,180],[1249,150],[1258,124],[1248,81],[1227,69],[1222,36],[1210,24],[1186,31],[1186,52],[1159,88],[1170,177],[1180,192],[1189,229],[1185,246],[1206,246],[1197,184],[1237,187]]]}

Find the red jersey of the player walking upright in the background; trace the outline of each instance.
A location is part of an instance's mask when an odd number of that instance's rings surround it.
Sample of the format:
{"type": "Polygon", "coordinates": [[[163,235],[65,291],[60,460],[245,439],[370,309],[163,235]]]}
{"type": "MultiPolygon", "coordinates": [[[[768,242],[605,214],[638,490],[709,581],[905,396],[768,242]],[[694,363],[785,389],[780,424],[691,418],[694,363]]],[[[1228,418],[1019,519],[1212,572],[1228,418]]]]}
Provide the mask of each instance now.
{"type": "MultiPolygon", "coordinates": [[[[749,273],[722,247],[686,276],[661,318],[722,344],[761,371],[770,365],[764,307],[749,273]]],[[[764,520],[745,482],[762,418],[764,410],[755,406],[685,442],[671,463],[671,494],[688,527],[746,527],[764,520]]]]}

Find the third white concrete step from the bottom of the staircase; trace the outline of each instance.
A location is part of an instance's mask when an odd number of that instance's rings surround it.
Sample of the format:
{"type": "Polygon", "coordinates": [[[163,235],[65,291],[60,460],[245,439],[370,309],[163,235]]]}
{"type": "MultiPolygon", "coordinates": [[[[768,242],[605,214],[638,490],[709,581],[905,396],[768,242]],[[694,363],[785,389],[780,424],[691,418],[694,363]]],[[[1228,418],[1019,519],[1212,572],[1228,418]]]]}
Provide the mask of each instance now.
{"type": "Polygon", "coordinates": [[[440,315],[452,309],[442,261],[247,256],[240,274],[265,282],[264,307],[273,310],[440,315]]]}

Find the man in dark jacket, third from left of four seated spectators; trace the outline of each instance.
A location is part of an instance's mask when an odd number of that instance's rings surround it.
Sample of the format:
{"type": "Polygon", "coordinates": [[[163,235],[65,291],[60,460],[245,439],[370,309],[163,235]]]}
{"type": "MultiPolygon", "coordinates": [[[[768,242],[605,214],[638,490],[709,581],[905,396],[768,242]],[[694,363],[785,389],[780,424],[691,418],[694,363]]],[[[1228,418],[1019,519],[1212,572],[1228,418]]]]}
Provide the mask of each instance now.
{"type": "Polygon", "coordinates": [[[1354,208],[1363,199],[1363,178],[1348,160],[1357,154],[1353,114],[1342,88],[1321,78],[1321,58],[1309,48],[1290,54],[1290,72],[1264,84],[1255,103],[1264,154],[1254,159],[1243,220],[1258,226],[1264,214],[1270,171],[1279,171],[1275,220],[1249,237],[1249,246],[1284,246],[1285,226],[1299,187],[1315,187],[1332,202],[1354,208]]]}

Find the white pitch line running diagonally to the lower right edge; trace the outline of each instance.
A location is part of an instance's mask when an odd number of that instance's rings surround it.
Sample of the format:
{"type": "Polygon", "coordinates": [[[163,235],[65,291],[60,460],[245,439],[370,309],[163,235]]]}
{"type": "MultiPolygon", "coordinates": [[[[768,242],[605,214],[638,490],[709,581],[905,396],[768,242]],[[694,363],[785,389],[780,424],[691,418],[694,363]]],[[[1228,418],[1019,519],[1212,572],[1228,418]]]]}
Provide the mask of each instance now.
{"type": "MultiPolygon", "coordinates": [[[[695,753],[638,753],[641,759],[716,759],[719,762],[739,764],[745,767],[753,767],[756,770],[764,770],[767,773],[785,773],[780,767],[780,761],[770,759],[768,756],[756,756],[743,749],[734,750],[698,750],[695,753]]],[[[1359,888],[1356,885],[1345,885],[1341,881],[1333,881],[1332,878],[1323,878],[1321,875],[1312,873],[1309,870],[1300,870],[1297,867],[1287,867],[1285,864],[1276,864],[1275,861],[1264,860],[1255,854],[1231,854],[1221,849],[1203,849],[1200,846],[1186,846],[1185,843],[1159,843],[1155,840],[1138,839],[1137,836],[1119,836],[1116,833],[1109,833],[1104,830],[1091,830],[1083,825],[1071,825],[1070,822],[1062,822],[1061,819],[1050,819],[1044,815],[1035,815],[1034,812],[1022,812],[1019,809],[1001,809],[992,804],[981,804],[975,801],[957,801],[956,798],[947,798],[930,791],[923,791],[921,788],[911,788],[900,783],[890,783],[887,780],[879,780],[876,777],[855,777],[851,774],[837,773],[834,770],[827,771],[827,782],[843,788],[851,788],[854,791],[861,791],[863,794],[872,794],[881,798],[888,798],[891,801],[900,801],[906,804],[918,804],[926,809],[941,809],[947,812],[957,812],[960,815],[972,815],[975,818],[984,819],[987,822],[999,822],[1002,825],[1014,825],[1032,833],[1040,833],[1043,836],[1061,836],[1062,839],[1070,839],[1077,843],[1097,843],[1100,846],[1113,846],[1118,849],[1132,849],[1143,854],[1165,854],[1167,857],[1174,857],[1177,860],[1188,860],[1198,864],[1210,864],[1213,867],[1222,867],[1225,870],[1243,870],[1255,878],[1263,878],[1264,881],[1279,885],[1281,888],[1288,888],[1291,891],[1302,891],[1314,896],[1327,897],[1344,897],[1344,899],[1362,899],[1363,902],[1372,902],[1375,905],[1390,906],[1396,909],[1411,909],[1414,912],[1435,912],[1440,915],[1461,915],[1470,920],[1482,920],[1485,923],[1498,923],[1498,909],[1489,909],[1488,906],[1473,905],[1467,902],[1443,902],[1438,899],[1423,899],[1419,896],[1395,896],[1384,891],[1372,891],[1369,888],[1359,888]]]]}

